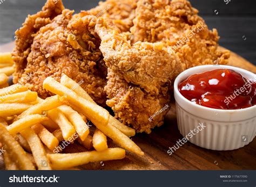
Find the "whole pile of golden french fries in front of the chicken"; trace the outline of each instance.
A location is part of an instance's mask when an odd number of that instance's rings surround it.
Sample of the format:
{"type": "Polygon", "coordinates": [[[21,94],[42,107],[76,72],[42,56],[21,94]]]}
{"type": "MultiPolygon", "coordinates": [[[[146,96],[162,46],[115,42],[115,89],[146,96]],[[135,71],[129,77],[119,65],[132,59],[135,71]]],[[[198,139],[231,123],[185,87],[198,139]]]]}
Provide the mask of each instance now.
{"type": "MultiPolygon", "coordinates": [[[[3,79],[0,76],[0,82],[3,79]]],[[[43,100],[19,84],[0,89],[0,147],[7,170],[72,169],[123,159],[125,149],[144,154],[129,138],[135,130],[98,106],[66,75],[60,82],[46,78],[43,87],[56,95],[43,100]],[[88,125],[89,120],[96,128],[88,125]],[[122,148],[109,148],[107,137],[122,148]],[[87,151],[62,153],[74,142],[87,151]]]]}

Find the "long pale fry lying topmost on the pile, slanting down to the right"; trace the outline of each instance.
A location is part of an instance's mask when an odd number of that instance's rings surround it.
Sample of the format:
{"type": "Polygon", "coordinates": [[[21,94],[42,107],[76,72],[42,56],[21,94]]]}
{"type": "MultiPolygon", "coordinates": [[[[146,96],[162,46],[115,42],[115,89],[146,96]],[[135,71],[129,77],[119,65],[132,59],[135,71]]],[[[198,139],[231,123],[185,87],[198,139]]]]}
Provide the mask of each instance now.
{"type": "Polygon", "coordinates": [[[93,124],[102,124],[106,125],[109,122],[109,112],[106,109],[96,105],[95,103],[89,102],[81,97],[79,97],[75,92],[71,89],[63,86],[55,79],[48,77],[44,80],[43,83],[44,89],[48,91],[58,94],[58,95],[66,95],[68,101],[75,105],[76,107],[82,109],[82,113],[92,121],[93,124]]]}

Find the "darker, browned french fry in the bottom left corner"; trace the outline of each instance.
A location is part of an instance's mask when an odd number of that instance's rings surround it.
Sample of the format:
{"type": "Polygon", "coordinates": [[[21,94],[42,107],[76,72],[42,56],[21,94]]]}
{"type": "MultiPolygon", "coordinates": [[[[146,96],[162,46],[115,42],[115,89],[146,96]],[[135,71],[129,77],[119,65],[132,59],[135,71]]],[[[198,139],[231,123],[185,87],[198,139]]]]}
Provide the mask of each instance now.
{"type": "Polygon", "coordinates": [[[24,149],[14,140],[14,137],[9,134],[8,130],[1,123],[0,142],[5,145],[6,152],[9,154],[11,160],[16,162],[19,169],[35,170],[32,162],[29,160],[28,156],[26,156],[24,149]]]}

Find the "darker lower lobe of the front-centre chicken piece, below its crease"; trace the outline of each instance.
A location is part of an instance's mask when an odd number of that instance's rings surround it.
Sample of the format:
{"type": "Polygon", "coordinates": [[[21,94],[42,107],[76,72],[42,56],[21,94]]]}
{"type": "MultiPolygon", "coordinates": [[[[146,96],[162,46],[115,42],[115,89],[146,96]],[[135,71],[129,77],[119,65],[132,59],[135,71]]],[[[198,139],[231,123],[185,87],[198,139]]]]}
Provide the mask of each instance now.
{"type": "Polygon", "coordinates": [[[110,69],[107,78],[105,91],[110,98],[107,105],[120,121],[132,126],[137,133],[151,133],[152,128],[164,123],[164,117],[170,109],[169,84],[161,87],[159,94],[149,94],[139,86],[127,83],[110,69]],[[164,107],[167,109],[157,113],[164,107]]]}

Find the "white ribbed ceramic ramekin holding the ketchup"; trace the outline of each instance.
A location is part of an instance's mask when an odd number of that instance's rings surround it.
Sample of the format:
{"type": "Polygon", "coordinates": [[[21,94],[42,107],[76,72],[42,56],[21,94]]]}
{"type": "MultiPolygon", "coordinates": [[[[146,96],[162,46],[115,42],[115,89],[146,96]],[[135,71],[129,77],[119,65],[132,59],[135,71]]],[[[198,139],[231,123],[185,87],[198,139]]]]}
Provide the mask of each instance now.
{"type": "Polygon", "coordinates": [[[252,72],[224,65],[197,66],[180,73],[174,82],[178,128],[186,137],[199,123],[203,123],[205,128],[188,138],[188,141],[212,150],[238,149],[246,146],[255,137],[256,106],[237,110],[207,108],[187,100],[178,90],[180,82],[190,75],[216,69],[230,69],[241,73],[247,79],[256,79],[252,72]]]}

